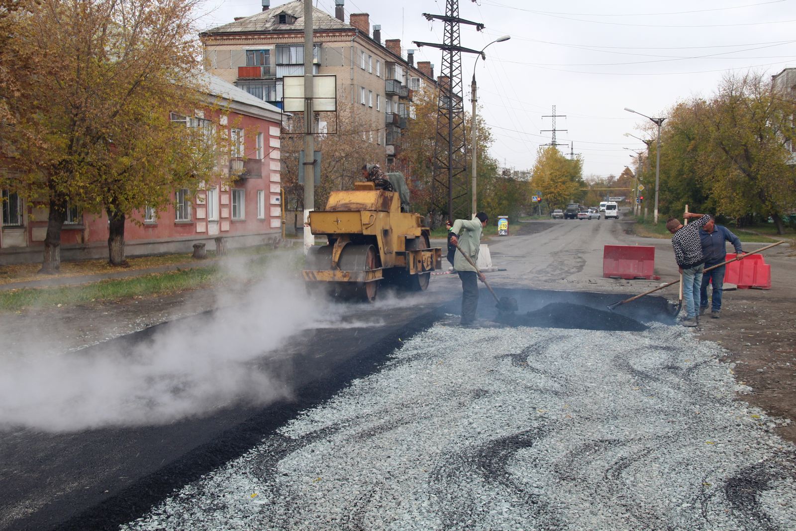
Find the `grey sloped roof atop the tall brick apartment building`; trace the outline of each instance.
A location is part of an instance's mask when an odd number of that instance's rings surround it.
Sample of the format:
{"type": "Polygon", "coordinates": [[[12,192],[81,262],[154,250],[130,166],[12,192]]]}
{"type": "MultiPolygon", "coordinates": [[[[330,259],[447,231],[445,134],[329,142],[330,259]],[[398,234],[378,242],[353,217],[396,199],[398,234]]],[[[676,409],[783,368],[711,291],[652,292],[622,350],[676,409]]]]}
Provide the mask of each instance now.
{"type": "MultiPolygon", "coordinates": [[[[353,25],[346,24],[334,18],[326,11],[312,8],[312,22],[314,29],[356,29],[353,25]]],[[[202,35],[214,35],[218,33],[246,33],[263,31],[304,31],[304,2],[293,0],[282,6],[260,11],[251,17],[241,18],[228,24],[220,25],[216,28],[202,32],[202,35]],[[279,24],[279,15],[287,14],[295,18],[291,24],[279,24]]]]}

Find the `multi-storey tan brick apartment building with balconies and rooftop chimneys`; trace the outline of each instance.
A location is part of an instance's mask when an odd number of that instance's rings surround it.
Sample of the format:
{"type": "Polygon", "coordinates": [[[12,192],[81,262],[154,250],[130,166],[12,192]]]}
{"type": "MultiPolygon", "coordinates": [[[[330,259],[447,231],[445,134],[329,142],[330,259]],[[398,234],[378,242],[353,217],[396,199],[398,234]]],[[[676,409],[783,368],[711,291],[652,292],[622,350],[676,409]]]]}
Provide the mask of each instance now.
{"type": "MultiPolygon", "coordinates": [[[[205,68],[221,79],[277,107],[283,105],[283,76],[304,74],[302,0],[236,18],[201,33],[205,68]]],[[[433,65],[415,64],[414,50],[402,53],[400,39],[381,41],[381,26],[369,14],[350,14],[335,0],[335,15],[313,8],[314,74],[337,76],[338,120],[357,123],[366,142],[384,146],[391,166],[400,136],[412,118],[412,93],[435,84],[433,65]]],[[[323,118],[322,118],[323,119],[323,118]]],[[[331,119],[328,119],[331,122],[331,119]]],[[[339,123],[328,123],[334,133],[339,123]]]]}

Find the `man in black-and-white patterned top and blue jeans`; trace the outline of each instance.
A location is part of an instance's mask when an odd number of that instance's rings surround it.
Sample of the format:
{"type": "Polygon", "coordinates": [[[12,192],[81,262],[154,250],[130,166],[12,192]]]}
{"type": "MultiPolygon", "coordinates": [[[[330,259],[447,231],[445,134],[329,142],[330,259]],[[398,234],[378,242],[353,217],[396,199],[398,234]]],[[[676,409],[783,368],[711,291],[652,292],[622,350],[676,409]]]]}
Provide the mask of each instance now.
{"type": "Polygon", "coordinates": [[[697,306],[700,304],[700,288],[702,287],[702,271],[704,271],[704,255],[699,229],[710,221],[709,214],[687,212],[684,217],[693,219],[693,223],[683,225],[676,217],[666,221],[666,229],[673,234],[672,247],[674,260],[683,275],[683,299],[685,299],[685,320],[683,326],[696,326],[697,306]]]}

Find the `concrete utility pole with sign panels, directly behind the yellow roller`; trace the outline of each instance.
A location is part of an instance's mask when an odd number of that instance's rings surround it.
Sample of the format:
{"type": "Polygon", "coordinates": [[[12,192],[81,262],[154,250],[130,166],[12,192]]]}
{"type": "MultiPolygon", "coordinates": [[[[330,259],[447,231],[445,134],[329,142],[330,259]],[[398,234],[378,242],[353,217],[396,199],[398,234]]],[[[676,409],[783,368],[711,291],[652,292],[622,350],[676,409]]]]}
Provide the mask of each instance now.
{"type": "Polygon", "coordinates": [[[310,212],[315,209],[315,138],[312,108],[312,0],[304,0],[304,254],[315,244],[310,212]]]}

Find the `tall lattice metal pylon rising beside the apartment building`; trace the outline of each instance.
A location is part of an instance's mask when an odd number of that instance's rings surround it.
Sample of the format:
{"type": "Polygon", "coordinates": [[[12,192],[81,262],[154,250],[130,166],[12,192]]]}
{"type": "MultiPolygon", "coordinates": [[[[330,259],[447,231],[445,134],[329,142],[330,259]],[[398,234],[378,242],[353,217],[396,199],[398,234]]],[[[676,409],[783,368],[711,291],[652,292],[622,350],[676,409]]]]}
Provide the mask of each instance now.
{"type": "Polygon", "coordinates": [[[445,24],[443,44],[415,41],[417,46],[430,46],[443,51],[439,76],[437,101],[437,134],[434,143],[434,180],[431,197],[437,212],[447,211],[451,221],[469,218],[470,179],[466,170],[466,139],[464,125],[464,98],[462,97],[462,52],[481,53],[462,48],[459,24],[484,28],[480,22],[458,18],[458,0],[447,0],[444,15],[423,13],[428,20],[441,20],[445,24]],[[446,204],[447,203],[447,204],[446,204]]]}

